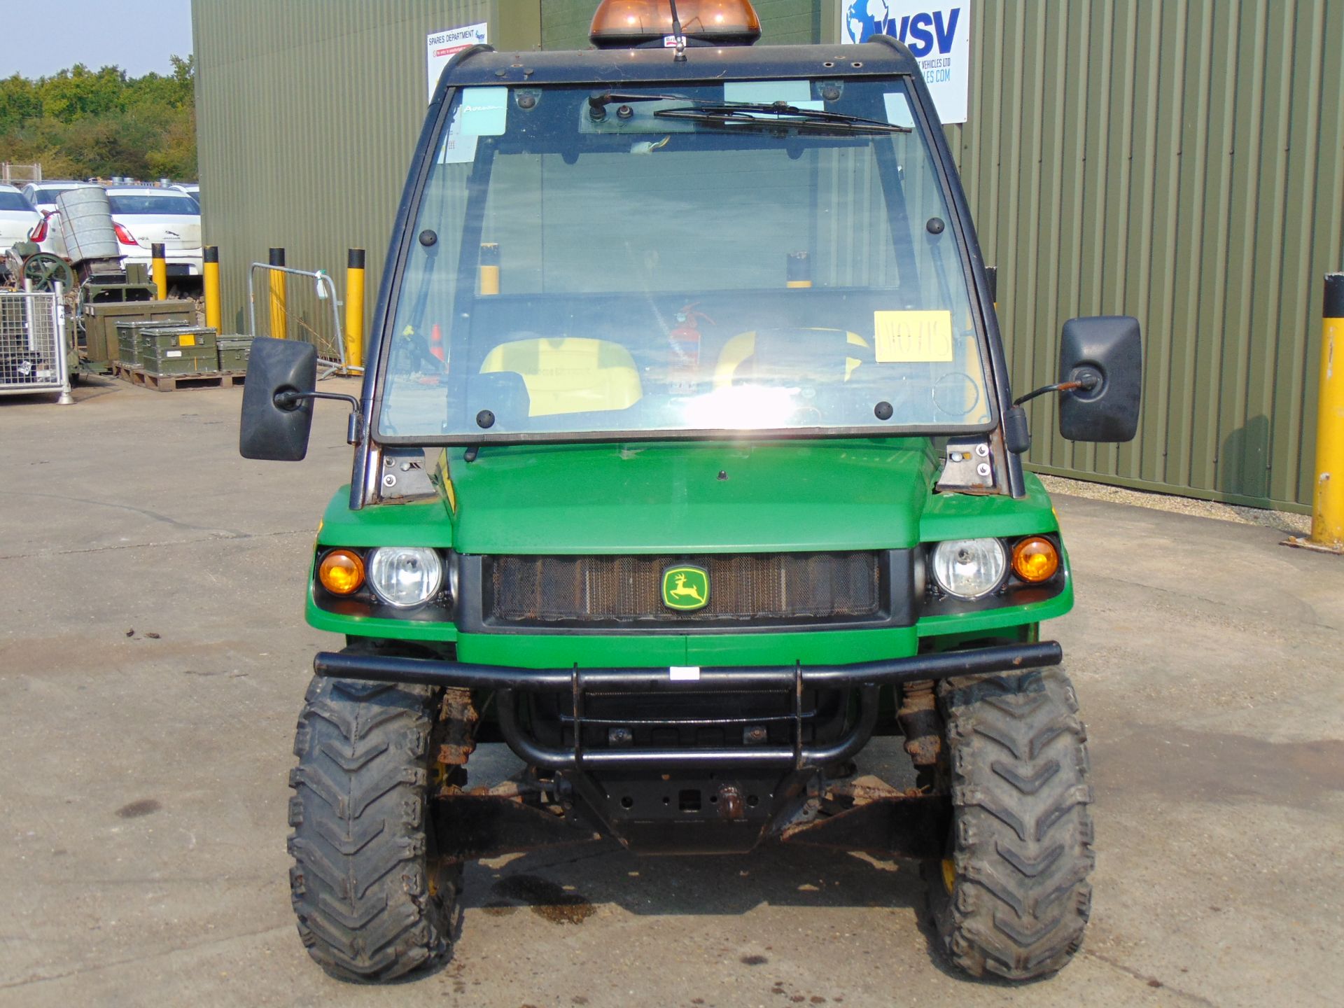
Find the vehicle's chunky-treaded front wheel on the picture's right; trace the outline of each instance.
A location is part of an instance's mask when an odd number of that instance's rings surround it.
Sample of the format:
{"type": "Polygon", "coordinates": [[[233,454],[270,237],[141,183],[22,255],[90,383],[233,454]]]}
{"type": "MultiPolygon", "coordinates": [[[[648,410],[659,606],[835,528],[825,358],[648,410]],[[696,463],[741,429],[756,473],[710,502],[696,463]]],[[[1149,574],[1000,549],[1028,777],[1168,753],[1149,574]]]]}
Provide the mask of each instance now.
{"type": "Polygon", "coordinates": [[[1035,980],[1082,945],[1091,909],[1087,734],[1059,671],[948,680],[948,852],[926,866],[938,942],[980,977],[1035,980]]]}

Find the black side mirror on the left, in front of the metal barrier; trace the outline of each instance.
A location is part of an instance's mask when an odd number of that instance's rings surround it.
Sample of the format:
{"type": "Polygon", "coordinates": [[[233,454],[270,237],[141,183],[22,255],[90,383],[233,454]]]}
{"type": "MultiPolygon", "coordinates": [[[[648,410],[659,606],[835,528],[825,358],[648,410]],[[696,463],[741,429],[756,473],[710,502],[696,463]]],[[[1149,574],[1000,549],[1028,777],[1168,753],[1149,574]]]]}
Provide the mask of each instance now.
{"type": "Polygon", "coordinates": [[[258,336],[247,358],[238,450],[243,458],[297,462],[308,454],[317,387],[317,348],[258,336]],[[293,396],[293,398],[289,398],[293,396]]]}

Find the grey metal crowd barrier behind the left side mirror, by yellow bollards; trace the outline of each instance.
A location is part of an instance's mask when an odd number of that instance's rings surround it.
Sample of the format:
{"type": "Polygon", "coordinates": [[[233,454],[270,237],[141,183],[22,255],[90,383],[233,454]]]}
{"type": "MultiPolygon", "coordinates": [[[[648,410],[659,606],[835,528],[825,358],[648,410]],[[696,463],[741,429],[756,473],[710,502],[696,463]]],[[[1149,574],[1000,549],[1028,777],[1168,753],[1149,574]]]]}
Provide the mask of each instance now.
{"type": "Polygon", "coordinates": [[[336,284],[325,270],[296,270],[254,262],[247,271],[247,320],[253,336],[298,339],[317,348],[319,378],[347,372],[336,284]],[[266,274],[258,290],[257,274],[266,274]],[[290,282],[301,277],[308,282],[290,282]],[[257,297],[265,301],[265,327],[257,328],[257,297]]]}

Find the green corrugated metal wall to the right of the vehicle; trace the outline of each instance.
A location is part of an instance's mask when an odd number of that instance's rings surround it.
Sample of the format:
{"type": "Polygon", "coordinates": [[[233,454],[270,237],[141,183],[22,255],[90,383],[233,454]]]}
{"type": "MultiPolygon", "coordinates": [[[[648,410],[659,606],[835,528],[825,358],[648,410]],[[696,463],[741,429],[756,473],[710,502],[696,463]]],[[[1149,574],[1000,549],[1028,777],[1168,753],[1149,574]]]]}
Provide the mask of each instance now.
{"type": "Polygon", "coordinates": [[[1059,328],[1144,327],[1129,445],[1063,441],[1043,472],[1302,509],[1321,277],[1344,266],[1341,0],[977,0],[969,122],[949,128],[1015,387],[1059,328]]]}

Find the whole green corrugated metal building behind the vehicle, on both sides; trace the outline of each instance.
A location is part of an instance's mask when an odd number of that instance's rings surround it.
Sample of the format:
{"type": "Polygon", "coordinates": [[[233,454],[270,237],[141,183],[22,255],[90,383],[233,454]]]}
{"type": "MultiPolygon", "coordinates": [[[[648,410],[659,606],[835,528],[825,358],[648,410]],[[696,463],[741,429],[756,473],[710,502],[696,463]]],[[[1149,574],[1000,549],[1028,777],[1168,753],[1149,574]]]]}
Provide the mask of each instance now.
{"type": "MultiPolygon", "coordinates": [[[[1344,267],[1344,0],[969,0],[969,118],[949,126],[1019,390],[1059,328],[1134,314],[1129,445],[1073,445],[1032,405],[1042,472],[1305,511],[1321,277],[1344,267]]],[[[762,44],[839,44],[851,0],[755,0],[762,44]]],[[[206,241],[224,320],[285,246],[380,273],[425,112],[426,36],[587,44],[595,0],[192,4],[206,241]]]]}

